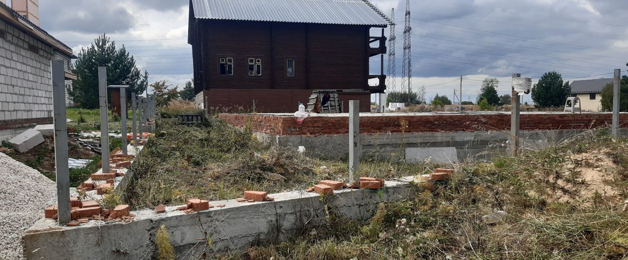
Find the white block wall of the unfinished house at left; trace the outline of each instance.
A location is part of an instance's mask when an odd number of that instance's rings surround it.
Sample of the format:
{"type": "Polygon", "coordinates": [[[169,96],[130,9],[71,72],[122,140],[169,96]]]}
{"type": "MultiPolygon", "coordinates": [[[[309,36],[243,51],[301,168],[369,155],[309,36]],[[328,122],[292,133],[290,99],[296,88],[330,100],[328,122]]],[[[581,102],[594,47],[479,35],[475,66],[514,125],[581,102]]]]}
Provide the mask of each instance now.
{"type": "Polygon", "coordinates": [[[53,49],[0,21],[0,125],[51,122],[53,49]]]}

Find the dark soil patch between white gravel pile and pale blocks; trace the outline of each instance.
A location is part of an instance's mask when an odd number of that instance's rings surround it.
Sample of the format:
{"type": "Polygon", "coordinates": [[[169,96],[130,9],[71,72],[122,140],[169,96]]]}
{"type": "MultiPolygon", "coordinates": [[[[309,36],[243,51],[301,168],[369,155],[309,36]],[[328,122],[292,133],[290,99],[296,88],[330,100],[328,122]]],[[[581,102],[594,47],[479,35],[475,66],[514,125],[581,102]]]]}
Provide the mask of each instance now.
{"type": "MultiPolygon", "coordinates": [[[[51,137],[44,138],[44,142],[28,152],[7,153],[11,158],[30,166],[40,172],[55,172],[55,141],[51,137]]],[[[92,159],[96,153],[82,147],[72,138],[68,139],[68,156],[72,159],[92,159]]]]}

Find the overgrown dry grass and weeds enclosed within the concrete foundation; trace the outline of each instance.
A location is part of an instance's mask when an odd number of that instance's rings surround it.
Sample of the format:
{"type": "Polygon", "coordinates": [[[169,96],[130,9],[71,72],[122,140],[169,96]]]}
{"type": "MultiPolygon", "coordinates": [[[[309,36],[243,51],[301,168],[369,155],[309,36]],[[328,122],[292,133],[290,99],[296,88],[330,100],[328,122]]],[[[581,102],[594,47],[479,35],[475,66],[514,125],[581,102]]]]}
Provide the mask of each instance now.
{"type": "MultiPolygon", "coordinates": [[[[136,208],[183,204],[185,199],[235,199],[245,190],[269,193],[306,189],[319,180],[346,180],[343,160],[318,160],[295,148],[269,147],[251,132],[235,130],[219,120],[183,126],[160,122],[156,138],[134,164],[128,191],[136,208]]],[[[426,173],[433,167],[400,159],[366,160],[362,175],[391,178],[426,173]]]]}

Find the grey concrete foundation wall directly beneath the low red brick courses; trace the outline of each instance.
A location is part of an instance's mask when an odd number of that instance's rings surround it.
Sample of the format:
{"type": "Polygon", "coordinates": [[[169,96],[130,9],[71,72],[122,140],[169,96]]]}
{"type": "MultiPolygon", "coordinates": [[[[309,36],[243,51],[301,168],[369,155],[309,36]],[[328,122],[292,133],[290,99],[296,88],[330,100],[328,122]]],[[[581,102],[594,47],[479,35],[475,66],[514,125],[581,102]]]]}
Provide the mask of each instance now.
{"type": "MultiPolygon", "coordinates": [[[[543,148],[585,131],[587,130],[521,131],[521,145],[531,149],[543,148]]],[[[620,133],[627,135],[628,129],[622,128],[620,133]]],[[[254,134],[259,140],[273,145],[304,146],[306,153],[312,157],[346,159],[349,156],[348,135],[254,134]]],[[[436,162],[490,159],[494,155],[506,154],[509,135],[510,132],[507,131],[363,134],[362,156],[384,159],[396,155],[408,162],[418,162],[428,157],[436,162]]]]}

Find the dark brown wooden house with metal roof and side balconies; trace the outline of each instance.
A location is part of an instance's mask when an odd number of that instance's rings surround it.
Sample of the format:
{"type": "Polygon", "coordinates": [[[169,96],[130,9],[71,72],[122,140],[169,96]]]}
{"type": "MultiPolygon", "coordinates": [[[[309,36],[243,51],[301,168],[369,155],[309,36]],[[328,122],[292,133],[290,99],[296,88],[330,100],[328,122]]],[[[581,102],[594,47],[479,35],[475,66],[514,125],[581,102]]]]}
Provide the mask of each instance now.
{"type": "Polygon", "coordinates": [[[367,112],[371,93],[386,89],[390,22],[367,0],[191,0],[197,103],[295,112],[313,90],[339,90],[345,111],[360,100],[367,112]]]}

